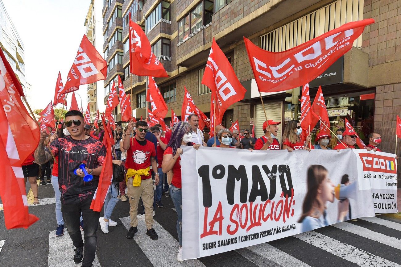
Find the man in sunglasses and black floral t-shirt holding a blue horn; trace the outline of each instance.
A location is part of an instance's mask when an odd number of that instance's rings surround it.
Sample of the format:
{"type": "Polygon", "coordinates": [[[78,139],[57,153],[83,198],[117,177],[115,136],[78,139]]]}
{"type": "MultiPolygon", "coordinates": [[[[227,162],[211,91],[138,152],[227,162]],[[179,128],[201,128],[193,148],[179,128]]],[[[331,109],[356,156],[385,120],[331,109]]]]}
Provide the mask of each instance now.
{"type": "MultiPolygon", "coordinates": [[[[106,149],[96,139],[85,135],[83,128],[83,114],[78,110],[70,110],[65,114],[65,126],[69,136],[55,139],[50,148],[59,159],[59,188],[61,191],[61,212],[63,213],[64,226],[75,247],[74,263],[82,261],[83,267],[92,266],[95,259],[96,230],[99,224],[99,212],[90,209],[93,195],[99,183],[99,175],[103,168],[106,149]],[[85,174],[79,165],[85,163],[86,171],[93,175],[91,181],[83,181],[85,174]],[[74,170],[77,169],[76,173],[74,170]],[[83,216],[85,243],[82,242],[79,229],[79,217],[83,216]],[[83,247],[85,254],[83,255],[83,247]],[[82,259],[83,257],[83,259],[82,259]]],[[[46,132],[41,132],[41,139],[35,151],[35,161],[46,163],[52,159],[49,149],[44,148],[43,141],[46,132]]]]}

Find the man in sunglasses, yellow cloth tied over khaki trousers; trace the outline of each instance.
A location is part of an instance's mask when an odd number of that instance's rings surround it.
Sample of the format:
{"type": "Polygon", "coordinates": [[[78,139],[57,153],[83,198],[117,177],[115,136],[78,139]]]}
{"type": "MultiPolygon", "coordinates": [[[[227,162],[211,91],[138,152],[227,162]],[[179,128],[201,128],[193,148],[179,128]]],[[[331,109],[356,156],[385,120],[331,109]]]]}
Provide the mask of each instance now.
{"type": "MultiPolygon", "coordinates": [[[[138,203],[142,198],[145,207],[145,223],[146,234],[152,240],[157,240],[159,237],[153,229],[153,179],[150,175],[150,166],[152,169],[157,169],[156,149],[154,144],[145,139],[146,132],[148,132],[148,124],[140,120],[136,122],[136,135],[135,138],[125,138],[123,142],[123,149],[127,151],[126,169],[127,169],[127,196],[130,200],[130,216],[131,228],[128,230],[127,238],[133,238],[135,233],[138,232],[138,203]],[[139,179],[140,178],[140,179],[139,179]],[[135,179],[135,183],[134,183],[135,179]],[[139,181],[140,183],[139,183],[139,181]]],[[[134,129],[134,120],[128,123],[126,135],[130,135],[134,129]]],[[[159,183],[159,174],[155,174],[156,184],[159,183]]]]}

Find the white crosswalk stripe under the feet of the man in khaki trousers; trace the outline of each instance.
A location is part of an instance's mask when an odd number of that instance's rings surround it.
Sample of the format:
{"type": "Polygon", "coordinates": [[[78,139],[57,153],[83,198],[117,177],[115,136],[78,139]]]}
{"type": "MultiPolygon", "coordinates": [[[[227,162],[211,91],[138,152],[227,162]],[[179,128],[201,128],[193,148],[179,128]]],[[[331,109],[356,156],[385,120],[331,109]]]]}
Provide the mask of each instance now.
{"type": "MultiPolygon", "coordinates": [[[[131,219],[129,216],[120,218],[120,220],[127,230],[131,227],[131,219]]],[[[153,228],[159,236],[159,239],[156,241],[152,241],[150,237],[146,235],[145,221],[138,220],[138,232],[135,234],[134,240],[154,267],[205,267],[205,265],[197,259],[178,262],[178,241],[158,224],[156,220],[154,221],[153,228]],[[154,249],[155,247],[158,248],[157,251],[154,249]],[[163,253],[159,253],[160,251],[163,251],[163,253]]]]}

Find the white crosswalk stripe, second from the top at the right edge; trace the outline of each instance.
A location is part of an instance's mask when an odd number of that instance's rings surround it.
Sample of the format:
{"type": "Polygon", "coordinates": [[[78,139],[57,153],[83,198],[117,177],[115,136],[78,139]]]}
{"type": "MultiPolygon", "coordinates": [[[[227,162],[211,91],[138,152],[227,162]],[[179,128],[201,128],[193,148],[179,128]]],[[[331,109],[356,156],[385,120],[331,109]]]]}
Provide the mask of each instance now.
{"type": "Polygon", "coordinates": [[[332,226],[334,226],[338,229],[350,232],[352,234],[357,234],[359,236],[369,238],[373,241],[382,243],[384,245],[388,245],[388,246],[391,246],[396,249],[401,249],[401,240],[398,238],[395,238],[393,236],[387,236],[385,234],[375,232],[370,229],[363,228],[363,227],[355,225],[355,224],[351,224],[349,222],[340,222],[340,223],[333,224],[332,226]]]}

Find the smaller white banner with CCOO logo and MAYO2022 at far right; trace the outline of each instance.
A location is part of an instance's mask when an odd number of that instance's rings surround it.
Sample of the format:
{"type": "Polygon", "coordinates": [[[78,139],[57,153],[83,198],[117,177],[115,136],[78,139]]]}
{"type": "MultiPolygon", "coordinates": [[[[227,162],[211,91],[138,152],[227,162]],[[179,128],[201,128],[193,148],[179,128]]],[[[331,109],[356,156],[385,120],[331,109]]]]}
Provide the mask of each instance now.
{"type": "Polygon", "coordinates": [[[376,213],[397,212],[397,161],[395,154],[353,150],[359,179],[371,181],[373,207],[376,213]]]}

